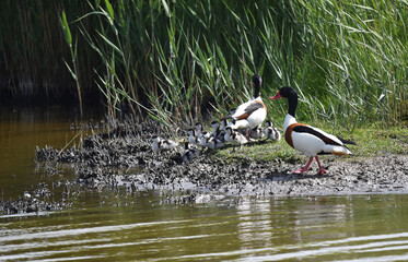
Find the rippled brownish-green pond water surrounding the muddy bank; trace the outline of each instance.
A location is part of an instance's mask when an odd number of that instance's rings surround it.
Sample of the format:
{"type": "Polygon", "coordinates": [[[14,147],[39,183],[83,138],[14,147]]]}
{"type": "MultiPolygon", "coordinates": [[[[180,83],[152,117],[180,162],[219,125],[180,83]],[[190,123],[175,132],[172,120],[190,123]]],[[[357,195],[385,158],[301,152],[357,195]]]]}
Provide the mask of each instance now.
{"type": "MultiPolygon", "coordinates": [[[[18,198],[54,179],[35,170],[35,145],[65,146],[75,117],[57,108],[0,116],[0,189],[18,198]]],[[[172,204],[166,192],[74,190],[69,210],[0,216],[0,260],[408,260],[407,194],[197,195],[208,201],[172,204]]]]}

